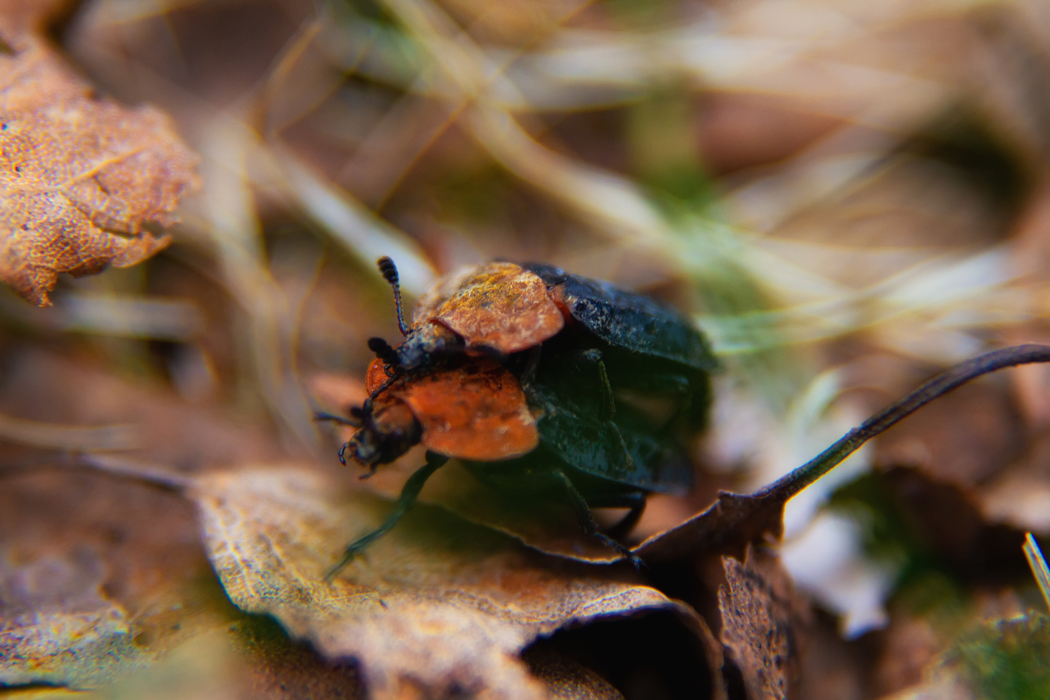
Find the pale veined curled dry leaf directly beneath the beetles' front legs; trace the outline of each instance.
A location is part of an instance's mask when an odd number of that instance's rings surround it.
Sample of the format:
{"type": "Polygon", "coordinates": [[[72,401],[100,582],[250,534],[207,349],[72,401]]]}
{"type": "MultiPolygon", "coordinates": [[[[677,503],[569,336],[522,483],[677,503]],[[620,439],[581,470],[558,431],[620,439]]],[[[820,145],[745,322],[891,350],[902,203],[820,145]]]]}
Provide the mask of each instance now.
{"type": "Polygon", "coordinates": [[[314,472],[204,475],[191,496],[230,598],[273,615],[329,658],[357,659],[374,698],[422,688],[544,698],[518,658],[541,635],[658,608],[702,625],[687,607],[631,582],[630,571],[542,557],[423,505],[326,581],[346,543],[378,526],[391,504],[340,495],[314,472]]]}

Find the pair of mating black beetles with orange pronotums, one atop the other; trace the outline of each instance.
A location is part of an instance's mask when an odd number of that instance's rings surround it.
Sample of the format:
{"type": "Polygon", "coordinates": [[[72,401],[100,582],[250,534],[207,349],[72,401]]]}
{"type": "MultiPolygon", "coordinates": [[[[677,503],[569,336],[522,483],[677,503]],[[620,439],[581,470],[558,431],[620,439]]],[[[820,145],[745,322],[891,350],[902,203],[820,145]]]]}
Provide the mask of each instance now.
{"type": "Polygon", "coordinates": [[[420,443],[426,464],[329,575],[393,528],[449,458],[494,488],[567,497],[584,532],[640,566],[616,537],[637,523],[647,493],[691,485],[686,441],[705,425],[717,368],[704,335],[635,292],[507,261],[442,278],[407,326],[397,268],[387,257],[377,264],[404,341],[371,339],[364,405],[317,418],[358,428],[339,459],[369,467],[362,479],[420,443]],[[607,534],[592,507],[630,510],[607,534]]]}

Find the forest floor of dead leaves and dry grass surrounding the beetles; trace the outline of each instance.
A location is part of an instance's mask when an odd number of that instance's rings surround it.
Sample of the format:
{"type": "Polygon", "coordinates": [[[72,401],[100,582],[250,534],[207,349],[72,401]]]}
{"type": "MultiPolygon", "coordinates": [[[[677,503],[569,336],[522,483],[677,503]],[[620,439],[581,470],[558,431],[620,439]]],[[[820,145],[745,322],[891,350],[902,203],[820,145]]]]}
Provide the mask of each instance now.
{"type": "Polygon", "coordinates": [[[1048,7],[0,0],[0,700],[1044,697],[1047,351],[864,421],[1050,343],[1048,7]],[[400,338],[379,256],[705,332],[644,568],[453,460],[326,577],[424,460],[312,420],[400,338]]]}

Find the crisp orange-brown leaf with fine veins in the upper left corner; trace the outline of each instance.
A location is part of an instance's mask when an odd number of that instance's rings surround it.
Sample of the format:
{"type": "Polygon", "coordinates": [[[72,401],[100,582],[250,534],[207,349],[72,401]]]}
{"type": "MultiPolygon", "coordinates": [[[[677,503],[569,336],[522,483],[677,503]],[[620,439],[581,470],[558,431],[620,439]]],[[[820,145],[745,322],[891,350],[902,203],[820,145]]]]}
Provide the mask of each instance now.
{"type": "Polygon", "coordinates": [[[37,33],[32,5],[0,4],[0,279],[48,305],[60,273],[126,268],[167,246],[143,227],[172,222],[198,181],[170,120],[93,94],[37,33]]]}

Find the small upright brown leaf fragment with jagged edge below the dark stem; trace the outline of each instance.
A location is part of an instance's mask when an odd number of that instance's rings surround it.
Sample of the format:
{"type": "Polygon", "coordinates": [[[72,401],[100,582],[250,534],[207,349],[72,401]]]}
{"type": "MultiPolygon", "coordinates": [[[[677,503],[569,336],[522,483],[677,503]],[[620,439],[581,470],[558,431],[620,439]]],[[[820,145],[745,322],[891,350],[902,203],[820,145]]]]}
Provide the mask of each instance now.
{"type": "Polygon", "coordinates": [[[749,549],[743,564],[727,556],[722,566],[728,587],[718,590],[721,639],[743,676],[748,697],[793,697],[807,609],[776,558],[749,549]]]}

